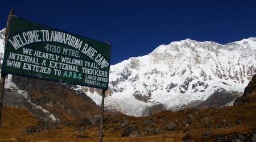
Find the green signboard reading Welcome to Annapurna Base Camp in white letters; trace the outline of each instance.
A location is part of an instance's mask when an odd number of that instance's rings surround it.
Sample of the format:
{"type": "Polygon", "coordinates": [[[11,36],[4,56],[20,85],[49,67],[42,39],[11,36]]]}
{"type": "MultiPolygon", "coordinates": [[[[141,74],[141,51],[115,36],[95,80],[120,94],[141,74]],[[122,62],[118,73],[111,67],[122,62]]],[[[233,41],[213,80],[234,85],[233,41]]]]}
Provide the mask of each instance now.
{"type": "Polygon", "coordinates": [[[1,72],[108,89],[111,45],[13,17],[1,72]]]}

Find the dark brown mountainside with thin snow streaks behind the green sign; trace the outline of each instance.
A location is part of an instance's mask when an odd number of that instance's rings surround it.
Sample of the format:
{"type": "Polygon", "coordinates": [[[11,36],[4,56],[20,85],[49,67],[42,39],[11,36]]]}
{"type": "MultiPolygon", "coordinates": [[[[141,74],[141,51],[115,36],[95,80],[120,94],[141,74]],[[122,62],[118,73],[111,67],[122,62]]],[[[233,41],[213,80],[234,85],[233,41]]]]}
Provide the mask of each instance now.
{"type": "MultiPolygon", "coordinates": [[[[0,31],[1,65],[4,34],[5,30],[0,31]]],[[[100,107],[86,96],[80,86],[10,74],[5,83],[3,105],[26,108],[38,118],[53,122],[90,118],[100,114],[100,107]]]]}

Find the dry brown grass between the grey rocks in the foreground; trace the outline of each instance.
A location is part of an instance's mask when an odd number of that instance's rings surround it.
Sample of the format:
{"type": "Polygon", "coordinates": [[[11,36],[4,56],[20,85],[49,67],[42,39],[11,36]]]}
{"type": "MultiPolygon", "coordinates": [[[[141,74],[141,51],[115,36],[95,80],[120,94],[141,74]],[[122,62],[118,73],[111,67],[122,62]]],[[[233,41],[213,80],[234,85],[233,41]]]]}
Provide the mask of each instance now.
{"type": "MultiPolygon", "coordinates": [[[[255,128],[256,119],[256,103],[245,103],[238,106],[224,107],[224,108],[205,108],[203,110],[196,110],[194,108],[183,112],[163,111],[151,117],[139,117],[118,115],[112,116],[111,119],[106,120],[104,128],[104,141],[182,141],[185,135],[192,136],[195,141],[213,141],[210,137],[202,135],[204,131],[212,130],[212,136],[225,136],[230,133],[244,133],[255,128]],[[185,127],[182,125],[187,116],[192,114],[194,119],[192,123],[185,127]],[[174,131],[164,131],[156,134],[155,132],[145,133],[143,136],[122,137],[122,132],[125,128],[114,131],[118,127],[118,123],[112,123],[113,120],[122,122],[129,119],[130,126],[136,124],[140,131],[151,124],[144,124],[144,120],[148,118],[155,118],[152,123],[155,127],[163,127],[170,122],[175,122],[177,127],[174,131]],[[209,127],[205,127],[202,120],[209,119],[209,127]],[[222,119],[228,120],[228,125],[223,126],[222,119]],[[241,119],[242,123],[237,124],[237,120],[241,119]],[[221,128],[214,128],[217,124],[221,124],[221,128]]],[[[85,129],[84,131],[75,131],[83,126],[65,126],[61,125],[60,130],[42,131],[34,133],[33,135],[23,135],[22,131],[28,125],[36,125],[36,118],[29,114],[23,108],[4,107],[3,109],[3,124],[0,130],[0,141],[98,141],[100,135],[99,126],[85,129]],[[84,139],[77,138],[78,135],[88,136],[84,139]]]]}

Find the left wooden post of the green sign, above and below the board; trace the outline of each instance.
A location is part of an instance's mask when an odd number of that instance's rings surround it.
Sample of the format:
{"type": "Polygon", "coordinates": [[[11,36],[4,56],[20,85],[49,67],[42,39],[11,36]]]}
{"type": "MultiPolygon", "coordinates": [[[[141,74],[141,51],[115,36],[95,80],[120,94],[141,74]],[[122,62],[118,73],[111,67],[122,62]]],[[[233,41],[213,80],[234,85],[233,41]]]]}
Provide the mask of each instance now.
{"type": "MultiPolygon", "coordinates": [[[[11,19],[14,16],[14,10],[12,9],[9,13],[9,17],[6,23],[6,28],[5,28],[5,47],[9,35],[9,30],[10,30],[10,23],[11,19]]],[[[5,78],[7,74],[6,73],[1,73],[1,81],[0,81],[0,127],[1,127],[1,117],[2,117],[2,104],[3,104],[3,92],[5,91],[5,78]]]]}

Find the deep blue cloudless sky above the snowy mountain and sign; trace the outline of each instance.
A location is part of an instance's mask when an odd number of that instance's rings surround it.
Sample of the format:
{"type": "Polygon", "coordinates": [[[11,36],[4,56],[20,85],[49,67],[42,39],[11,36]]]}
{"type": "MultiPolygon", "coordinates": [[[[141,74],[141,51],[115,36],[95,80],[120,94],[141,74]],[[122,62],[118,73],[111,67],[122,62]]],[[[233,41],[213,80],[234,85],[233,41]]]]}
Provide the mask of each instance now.
{"type": "Polygon", "coordinates": [[[160,44],[194,39],[221,44],[256,37],[256,1],[1,1],[21,18],[112,44],[111,64],[160,44]]]}

